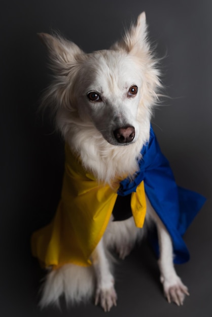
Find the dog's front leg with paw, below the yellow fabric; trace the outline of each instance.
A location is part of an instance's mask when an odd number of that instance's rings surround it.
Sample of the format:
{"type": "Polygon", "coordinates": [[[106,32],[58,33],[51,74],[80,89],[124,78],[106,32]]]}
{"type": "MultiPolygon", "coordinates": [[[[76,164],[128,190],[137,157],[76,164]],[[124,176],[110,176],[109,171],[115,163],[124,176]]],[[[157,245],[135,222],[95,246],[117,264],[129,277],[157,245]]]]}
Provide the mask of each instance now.
{"type": "Polygon", "coordinates": [[[104,311],[116,306],[117,295],[114,289],[114,277],[110,271],[110,263],[105,254],[102,239],[92,253],[92,263],[96,273],[95,305],[100,303],[104,311]]]}

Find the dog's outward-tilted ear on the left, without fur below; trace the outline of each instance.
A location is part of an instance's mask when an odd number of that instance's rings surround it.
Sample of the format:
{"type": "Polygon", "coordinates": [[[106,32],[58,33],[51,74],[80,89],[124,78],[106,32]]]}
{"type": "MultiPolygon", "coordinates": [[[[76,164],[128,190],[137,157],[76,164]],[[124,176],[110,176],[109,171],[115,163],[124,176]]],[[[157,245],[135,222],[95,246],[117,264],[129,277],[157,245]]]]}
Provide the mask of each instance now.
{"type": "Polygon", "coordinates": [[[59,35],[50,35],[47,33],[38,33],[41,42],[46,46],[52,70],[58,71],[67,69],[79,60],[79,57],[85,53],[73,42],[66,41],[59,35]]]}

